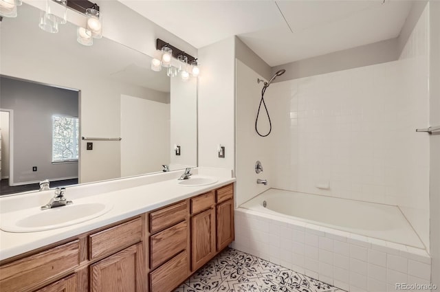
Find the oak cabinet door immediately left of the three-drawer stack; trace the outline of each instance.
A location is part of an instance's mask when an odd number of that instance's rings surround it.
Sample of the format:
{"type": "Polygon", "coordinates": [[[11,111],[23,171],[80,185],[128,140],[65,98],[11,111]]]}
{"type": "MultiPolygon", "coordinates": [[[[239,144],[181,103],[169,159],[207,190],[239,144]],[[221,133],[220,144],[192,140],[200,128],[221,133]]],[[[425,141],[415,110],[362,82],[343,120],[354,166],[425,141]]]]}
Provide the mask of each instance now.
{"type": "Polygon", "coordinates": [[[142,244],[127,247],[90,266],[91,292],[143,292],[142,244]]]}

